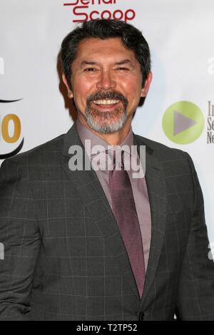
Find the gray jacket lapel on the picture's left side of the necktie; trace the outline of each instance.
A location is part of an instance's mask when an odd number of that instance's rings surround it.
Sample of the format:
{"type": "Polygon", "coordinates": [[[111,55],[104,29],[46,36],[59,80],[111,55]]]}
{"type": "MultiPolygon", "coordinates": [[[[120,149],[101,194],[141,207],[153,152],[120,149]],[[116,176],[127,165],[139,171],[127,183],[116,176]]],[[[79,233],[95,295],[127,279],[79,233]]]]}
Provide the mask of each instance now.
{"type": "Polygon", "coordinates": [[[106,253],[116,259],[119,267],[121,267],[121,273],[123,274],[123,279],[126,281],[126,285],[131,286],[134,294],[139,298],[128,254],[113,212],[96,176],[96,172],[92,168],[91,170],[84,169],[85,160],[87,165],[90,166],[90,161],[88,156],[85,155],[85,149],[76,132],[76,126],[74,124],[64,137],[63,169],[76,187],[78,195],[81,197],[88,214],[91,216],[93,224],[98,227],[98,230],[105,240],[105,245],[108,249],[106,253]],[[83,150],[83,170],[72,171],[68,167],[68,161],[71,158],[68,151],[71,145],[78,145],[79,148],[83,150]]]}

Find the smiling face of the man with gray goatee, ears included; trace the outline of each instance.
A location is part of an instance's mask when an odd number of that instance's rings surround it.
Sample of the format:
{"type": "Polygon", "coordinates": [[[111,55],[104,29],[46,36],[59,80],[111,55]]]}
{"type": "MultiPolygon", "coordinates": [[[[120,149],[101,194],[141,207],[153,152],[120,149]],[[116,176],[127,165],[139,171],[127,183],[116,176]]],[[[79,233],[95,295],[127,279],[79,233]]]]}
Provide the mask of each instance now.
{"type": "MultiPolygon", "coordinates": [[[[120,38],[88,38],[78,46],[71,66],[71,88],[78,118],[98,133],[114,133],[131,124],[150,78],[142,88],[141,66],[120,38]]],[[[151,73],[150,73],[151,75],[151,73]]]]}

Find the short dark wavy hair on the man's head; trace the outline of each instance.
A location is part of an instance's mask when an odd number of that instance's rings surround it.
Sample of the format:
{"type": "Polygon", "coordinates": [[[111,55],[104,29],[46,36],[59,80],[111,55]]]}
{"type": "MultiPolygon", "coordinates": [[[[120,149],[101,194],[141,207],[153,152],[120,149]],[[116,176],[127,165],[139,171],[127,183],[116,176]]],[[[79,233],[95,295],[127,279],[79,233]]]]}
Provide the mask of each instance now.
{"type": "Polygon", "coordinates": [[[85,21],[77,26],[61,43],[61,63],[68,85],[71,87],[71,64],[76,58],[79,43],[85,38],[121,38],[126,48],[133,50],[141,65],[143,83],[151,70],[151,55],[146,39],[141,31],[124,21],[100,19],[85,21]]]}

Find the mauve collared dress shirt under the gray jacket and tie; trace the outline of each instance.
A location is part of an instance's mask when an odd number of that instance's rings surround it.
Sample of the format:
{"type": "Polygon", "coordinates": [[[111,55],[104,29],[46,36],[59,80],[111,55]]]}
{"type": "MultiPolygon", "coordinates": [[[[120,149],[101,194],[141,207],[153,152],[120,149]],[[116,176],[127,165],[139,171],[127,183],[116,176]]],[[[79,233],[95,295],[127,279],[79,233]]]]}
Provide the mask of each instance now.
{"type": "MultiPolygon", "coordinates": [[[[125,160],[128,160],[130,162],[131,155],[133,157],[133,151],[131,151],[131,146],[133,145],[133,132],[132,128],[130,129],[128,135],[126,136],[125,140],[121,143],[121,145],[111,146],[102,138],[100,138],[98,135],[93,133],[91,130],[86,128],[78,119],[76,120],[76,130],[78,132],[79,137],[81,138],[81,142],[83,143],[84,147],[86,148],[86,153],[88,155],[88,158],[91,160],[92,168],[95,170],[96,175],[98,177],[99,182],[101,183],[101,186],[103,187],[103,191],[106,194],[108,203],[112,209],[111,204],[111,195],[110,195],[110,189],[109,189],[109,182],[108,182],[108,174],[109,170],[111,169],[111,158],[113,158],[113,150],[121,150],[121,147],[123,147],[123,150],[126,153],[125,160]],[[85,146],[85,140],[91,140],[91,148],[93,148],[95,145],[100,145],[101,148],[103,148],[103,152],[101,153],[101,150],[99,150],[98,153],[91,153],[91,150],[88,150],[87,145],[85,146]],[[126,150],[127,148],[127,150],[126,150]],[[104,166],[104,160],[106,159],[105,151],[108,150],[109,154],[109,160],[106,164],[108,168],[105,170],[97,169],[96,166],[98,166],[98,163],[101,163],[103,161],[104,166]],[[128,157],[130,157],[128,159],[128,157]]],[[[96,152],[96,150],[95,150],[96,152]]],[[[141,165],[138,154],[137,155],[137,164],[141,165]]],[[[118,155],[119,157],[119,155],[118,155]]],[[[126,162],[124,162],[126,164],[126,162]]],[[[120,162],[118,162],[118,168],[119,168],[120,162]]],[[[136,203],[136,211],[138,214],[138,221],[141,229],[141,236],[143,241],[143,253],[144,253],[144,262],[145,262],[145,270],[147,269],[148,265],[148,257],[149,257],[149,250],[150,250],[150,244],[151,244],[151,209],[148,199],[148,191],[146,187],[146,180],[145,177],[133,177],[133,172],[136,172],[136,170],[133,170],[131,163],[130,169],[126,169],[131,181],[131,187],[133,190],[133,197],[136,203]]],[[[128,165],[127,165],[128,166],[128,165]]],[[[142,166],[141,166],[142,168],[142,166]]]]}

